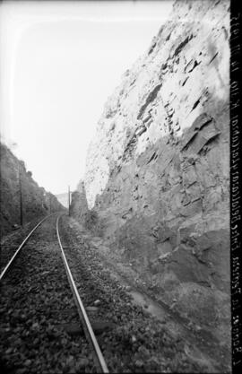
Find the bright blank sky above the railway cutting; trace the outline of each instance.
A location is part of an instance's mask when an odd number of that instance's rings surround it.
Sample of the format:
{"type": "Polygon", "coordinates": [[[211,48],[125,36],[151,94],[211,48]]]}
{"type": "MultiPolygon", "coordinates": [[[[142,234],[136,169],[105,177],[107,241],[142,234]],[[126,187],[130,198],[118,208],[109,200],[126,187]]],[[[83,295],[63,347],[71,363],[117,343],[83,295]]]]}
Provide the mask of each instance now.
{"type": "Polygon", "coordinates": [[[173,2],[0,4],[0,126],[54,194],[75,189],[108,96],[150,46],[173,2]]]}

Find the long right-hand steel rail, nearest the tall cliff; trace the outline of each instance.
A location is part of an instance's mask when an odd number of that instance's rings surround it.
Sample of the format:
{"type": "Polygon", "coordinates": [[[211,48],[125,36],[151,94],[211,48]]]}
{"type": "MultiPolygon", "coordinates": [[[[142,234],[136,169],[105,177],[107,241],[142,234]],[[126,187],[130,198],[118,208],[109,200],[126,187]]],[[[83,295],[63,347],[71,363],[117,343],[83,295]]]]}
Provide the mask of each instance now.
{"type": "Polygon", "coordinates": [[[58,216],[57,220],[56,220],[56,233],[57,233],[59,246],[61,248],[61,254],[62,254],[64,265],[65,265],[65,271],[66,271],[71,289],[73,291],[74,300],[76,302],[76,306],[77,306],[77,309],[78,309],[78,314],[79,314],[80,318],[82,319],[82,323],[83,323],[83,326],[84,326],[84,332],[85,332],[86,338],[91,343],[91,345],[93,347],[93,350],[95,352],[96,359],[97,359],[98,364],[99,364],[99,368],[102,370],[103,373],[108,373],[109,371],[108,371],[107,364],[104,360],[102,352],[100,351],[98,341],[97,341],[96,336],[94,335],[94,332],[92,330],[90,320],[89,320],[89,318],[87,316],[87,313],[86,313],[86,310],[84,309],[84,306],[82,304],[82,300],[81,300],[80,295],[77,291],[76,285],[73,281],[73,275],[71,273],[71,270],[69,268],[69,265],[68,265],[66,257],[65,257],[65,252],[64,252],[64,249],[63,249],[62,244],[61,244],[61,240],[60,240],[60,236],[59,236],[59,230],[58,230],[59,218],[60,218],[60,216],[58,216]]]}

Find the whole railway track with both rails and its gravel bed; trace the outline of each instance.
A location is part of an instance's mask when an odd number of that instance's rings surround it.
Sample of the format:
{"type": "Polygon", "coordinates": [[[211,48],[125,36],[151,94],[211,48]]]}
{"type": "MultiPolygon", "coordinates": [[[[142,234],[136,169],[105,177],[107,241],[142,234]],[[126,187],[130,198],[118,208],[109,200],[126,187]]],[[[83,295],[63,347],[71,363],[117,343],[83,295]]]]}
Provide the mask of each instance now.
{"type": "Polygon", "coordinates": [[[187,358],[179,336],[133,305],[67,216],[39,222],[16,248],[0,282],[5,372],[208,371],[187,358]]]}

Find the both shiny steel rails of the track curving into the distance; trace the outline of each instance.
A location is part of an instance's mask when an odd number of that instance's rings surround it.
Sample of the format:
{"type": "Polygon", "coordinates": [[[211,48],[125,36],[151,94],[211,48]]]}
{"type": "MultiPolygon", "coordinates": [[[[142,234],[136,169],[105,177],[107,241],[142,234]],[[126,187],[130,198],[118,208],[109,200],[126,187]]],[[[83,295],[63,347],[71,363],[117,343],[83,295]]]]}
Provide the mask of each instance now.
{"type": "MultiPolygon", "coordinates": [[[[4,267],[4,271],[1,273],[0,275],[0,282],[2,281],[2,279],[4,278],[4,275],[8,272],[8,270],[11,268],[11,266],[13,266],[13,262],[14,260],[16,259],[16,257],[20,254],[23,246],[26,244],[27,240],[30,239],[30,236],[32,235],[32,233],[39,227],[39,225],[46,221],[51,215],[53,214],[50,214],[48,215],[47,217],[45,217],[43,220],[41,220],[34,228],[33,230],[30,231],[30,234],[22,241],[22,244],[20,245],[20,247],[16,250],[16,252],[14,253],[13,257],[11,258],[11,260],[9,261],[9,263],[4,267]]],[[[102,352],[100,351],[100,348],[99,348],[99,344],[98,344],[98,341],[96,339],[96,336],[94,335],[94,332],[92,330],[92,327],[91,327],[91,323],[90,323],[90,320],[87,316],[87,313],[84,309],[84,306],[82,304],[82,300],[80,298],[80,295],[77,291],[77,288],[76,288],[76,285],[73,281],[73,275],[71,273],[71,270],[69,268],[69,265],[67,263],[67,260],[66,260],[66,257],[65,257],[65,252],[64,252],[64,249],[62,247],[62,244],[61,244],[61,240],[60,240],[60,235],[59,235],[59,230],[58,230],[58,222],[59,222],[59,218],[60,218],[60,215],[58,215],[57,219],[56,219],[56,235],[57,235],[57,239],[58,239],[58,243],[59,243],[59,246],[61,248],[61,255],[62,255],[62,258],[63,258],[63,261],[64,261],[64,265],[65,265],[65,272],[67,274],[67,278],[68,278],[68,282],[71,286],[71,289],[72,289],[72,292],[73,292],[73,298],[75,300],[75,304],[76,304],[76,307],[77,307],[77,310],[78,310],[78,314],[79,314],[79,317],[82,321],[82,326],[83,326],[83,330],[84,330],[84,333],[85,333],[85,336],[87,338],[87,340],[89,341],[89,343],[91,344],[91,347],[92,347],[92,350],[93,352],[95,353],[95,362],[96,362],[96,366],[98,367],[98,369],[100,370],[100,372],[103,372],[103,373],[108,373],[108,367],[107,367],[107,364],[104,360],[104,357],[102,355],[102,352]]]]}

